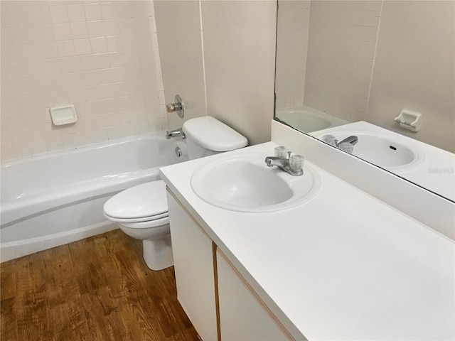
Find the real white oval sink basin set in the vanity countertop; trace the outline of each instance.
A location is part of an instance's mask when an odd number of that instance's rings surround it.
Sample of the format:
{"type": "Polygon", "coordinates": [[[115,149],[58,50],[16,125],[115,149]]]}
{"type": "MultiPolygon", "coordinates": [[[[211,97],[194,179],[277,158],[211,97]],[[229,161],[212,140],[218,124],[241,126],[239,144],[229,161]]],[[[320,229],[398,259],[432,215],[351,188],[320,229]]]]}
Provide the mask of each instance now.
{"type": "Polygon", "coordinates": [[[242,153],[205,164],[191,178],[191,188],[202,200],[226,210],[270,212],[301,205],[321,187],[314,169],[293,176],[267,167],[272,153],[242,153]]]}

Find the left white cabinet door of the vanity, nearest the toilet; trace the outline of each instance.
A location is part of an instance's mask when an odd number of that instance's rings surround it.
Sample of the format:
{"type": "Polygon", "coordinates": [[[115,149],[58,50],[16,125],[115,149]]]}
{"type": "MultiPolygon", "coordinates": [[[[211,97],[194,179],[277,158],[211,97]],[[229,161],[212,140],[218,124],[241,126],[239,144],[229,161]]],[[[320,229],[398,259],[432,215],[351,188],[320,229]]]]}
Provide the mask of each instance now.
{"type": "Polygon", "coordinates": [[[203,341],[217,340],[212,241],[167,193],[178,301],[203,341]]]}

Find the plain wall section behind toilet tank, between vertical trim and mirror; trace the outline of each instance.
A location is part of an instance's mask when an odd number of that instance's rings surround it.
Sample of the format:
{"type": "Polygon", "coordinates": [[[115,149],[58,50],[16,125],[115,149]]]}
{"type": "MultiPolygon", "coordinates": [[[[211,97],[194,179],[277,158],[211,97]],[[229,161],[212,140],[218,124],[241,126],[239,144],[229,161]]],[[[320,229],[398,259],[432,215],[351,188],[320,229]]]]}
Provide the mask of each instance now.
{"type": "Polygon", "coordinates": [[[274,1],[203,1],[208,114],[250,144],[270,141],[274,107],[274,1]]]}

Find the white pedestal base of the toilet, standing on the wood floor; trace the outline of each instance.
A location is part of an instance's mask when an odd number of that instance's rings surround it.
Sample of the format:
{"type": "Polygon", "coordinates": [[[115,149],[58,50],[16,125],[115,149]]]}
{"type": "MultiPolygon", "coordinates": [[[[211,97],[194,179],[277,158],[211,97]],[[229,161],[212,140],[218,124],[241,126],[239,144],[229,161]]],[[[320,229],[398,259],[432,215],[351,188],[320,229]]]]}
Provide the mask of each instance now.
{"type": "Polygon", "coordinates": [[[171,234],[159,239],[144,239],[142,249],[149,269],[159,271],[173,266],[171,234]]]}

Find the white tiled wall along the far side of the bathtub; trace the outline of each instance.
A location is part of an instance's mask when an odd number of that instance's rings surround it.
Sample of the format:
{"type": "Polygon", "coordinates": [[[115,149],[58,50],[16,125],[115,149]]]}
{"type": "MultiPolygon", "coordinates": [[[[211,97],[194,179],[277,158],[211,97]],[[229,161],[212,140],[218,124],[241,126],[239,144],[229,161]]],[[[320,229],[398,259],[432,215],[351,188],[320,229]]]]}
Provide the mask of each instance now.
{"type": "Polygon", "coordinates": [[[166,129],[152,1],[1,1],[0,119],[2,160],[166,129]]]}

